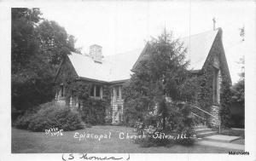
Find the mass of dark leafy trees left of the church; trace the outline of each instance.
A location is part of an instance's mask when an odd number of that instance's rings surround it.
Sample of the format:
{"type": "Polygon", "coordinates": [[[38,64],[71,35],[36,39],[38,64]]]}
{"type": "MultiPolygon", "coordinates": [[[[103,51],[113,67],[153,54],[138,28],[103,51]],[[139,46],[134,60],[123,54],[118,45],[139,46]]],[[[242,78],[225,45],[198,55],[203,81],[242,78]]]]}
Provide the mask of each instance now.
{"type": "Polygon", "coordinates": [[[51,101],[56,68],[74,51],[75,38],[39,9],[12,9],[12,110],[25,111],[51,101]]]}

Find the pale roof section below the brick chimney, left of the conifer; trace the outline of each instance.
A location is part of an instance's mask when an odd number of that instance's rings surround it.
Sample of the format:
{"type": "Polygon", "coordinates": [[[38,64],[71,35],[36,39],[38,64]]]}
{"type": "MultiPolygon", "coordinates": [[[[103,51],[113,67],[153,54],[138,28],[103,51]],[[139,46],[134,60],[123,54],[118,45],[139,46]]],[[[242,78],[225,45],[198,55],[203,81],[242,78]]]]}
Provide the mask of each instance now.
{"type": "Polygon", "coordinates": [[[106,56],[102,63],[96,63],[89,56],[75,53],[68,55],[68,58],[79,77],[113,82],[127,80],[131,77],[131,68],[142,50],[135,49],[119,55],[106,56]]]}

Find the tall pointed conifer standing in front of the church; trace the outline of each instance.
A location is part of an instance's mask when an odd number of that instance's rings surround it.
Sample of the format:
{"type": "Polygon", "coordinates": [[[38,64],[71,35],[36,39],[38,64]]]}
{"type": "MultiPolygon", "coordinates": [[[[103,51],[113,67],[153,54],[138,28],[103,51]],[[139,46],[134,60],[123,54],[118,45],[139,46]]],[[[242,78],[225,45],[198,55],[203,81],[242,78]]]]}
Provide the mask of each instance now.
{"type": "Polygon", "coordinates": [[[189,61],[185,60],[186,49],[183,48],[183,43],[178,39],[174,40],[172,32],[165,31],[148,44],[148,55],[140,60],[139,65],[132,71],[134,73],[130,83],[125,86],[125,111],[128,117],[131,116],[129,120],[145,120],[145,113],[158,106],[157,119],[161,120],[162,129],[165,130],[166,120],[176,113],[172,105],[174,102],[183,101],[182,87],[189,61]]]}

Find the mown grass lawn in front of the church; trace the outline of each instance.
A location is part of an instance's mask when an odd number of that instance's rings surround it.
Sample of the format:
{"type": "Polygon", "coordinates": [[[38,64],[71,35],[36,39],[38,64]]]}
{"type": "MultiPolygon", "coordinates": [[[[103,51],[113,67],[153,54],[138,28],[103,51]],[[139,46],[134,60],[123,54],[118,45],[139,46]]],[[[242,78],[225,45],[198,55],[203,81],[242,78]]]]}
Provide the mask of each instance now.
{"type": "Polygon", "coordinates": [[[63,132],[62,136],[46,135],[44,132],[31,132],[12,128],[13,153],[226,153],[231,149],[195,145],[184,147],[140,147],[131,139],[119,139],[120,132],[132,134],[131,128],[121,126],[93,126],[87,129],[63,132]],[[79,141],[75,133],[103,135],[111,132],[110,139],[87,139],[79,141]]]}

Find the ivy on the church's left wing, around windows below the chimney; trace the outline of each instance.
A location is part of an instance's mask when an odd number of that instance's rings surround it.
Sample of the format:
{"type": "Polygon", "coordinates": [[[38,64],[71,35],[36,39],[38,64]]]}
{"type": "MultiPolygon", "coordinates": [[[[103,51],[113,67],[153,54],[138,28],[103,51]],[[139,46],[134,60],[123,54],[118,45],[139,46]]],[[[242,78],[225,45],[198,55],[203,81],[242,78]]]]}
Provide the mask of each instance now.
{"type": "Polygon", "coordinates": [[[104,124],[106,109],[110,106],[110,93],[107,85],[101,84],[103,89],[102,99],[91,98],[90,89],[93,82],[78,79],[76,72],[67,59],[61,66],[60,73],[55,80],[55,92],[62,83],[65,88],[66,104],[69,105],[71,96],[79,108],[79,114],[86,124],[104,124]]]}

